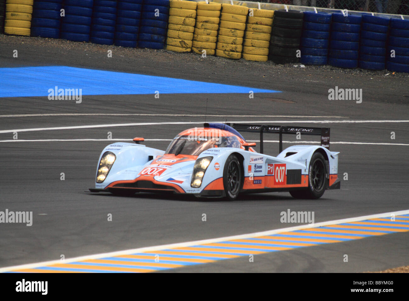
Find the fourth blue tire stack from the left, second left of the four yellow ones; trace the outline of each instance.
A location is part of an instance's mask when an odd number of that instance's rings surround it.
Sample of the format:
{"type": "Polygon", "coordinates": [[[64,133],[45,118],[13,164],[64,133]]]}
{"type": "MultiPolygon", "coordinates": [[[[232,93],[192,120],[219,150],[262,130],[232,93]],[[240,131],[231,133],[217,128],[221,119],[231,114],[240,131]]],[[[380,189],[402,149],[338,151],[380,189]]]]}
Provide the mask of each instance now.
{"type": "Polygon", "coordinates": [[[142,0],[118,1],[115,45],[137,47],[141,10],[142,0]]]}

